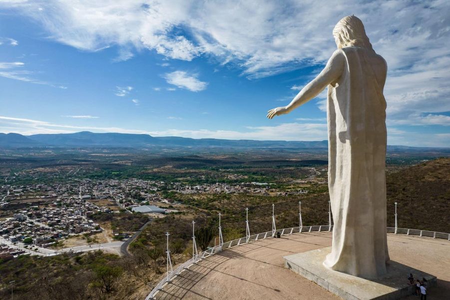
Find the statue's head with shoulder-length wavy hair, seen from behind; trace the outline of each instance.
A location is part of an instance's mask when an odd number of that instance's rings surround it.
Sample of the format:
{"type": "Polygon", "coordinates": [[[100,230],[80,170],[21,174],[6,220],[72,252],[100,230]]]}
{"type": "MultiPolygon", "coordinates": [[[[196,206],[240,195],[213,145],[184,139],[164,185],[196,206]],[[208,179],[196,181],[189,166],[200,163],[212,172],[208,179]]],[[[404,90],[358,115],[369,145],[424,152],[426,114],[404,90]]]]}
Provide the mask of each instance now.
{"type": "Polygon", "coordinates": [[[363,22],[354,15],[343,17],[334,27],[333,36],[338,39],[338,48],[357,46],[373,50],[363,22]]]}

